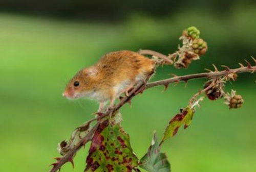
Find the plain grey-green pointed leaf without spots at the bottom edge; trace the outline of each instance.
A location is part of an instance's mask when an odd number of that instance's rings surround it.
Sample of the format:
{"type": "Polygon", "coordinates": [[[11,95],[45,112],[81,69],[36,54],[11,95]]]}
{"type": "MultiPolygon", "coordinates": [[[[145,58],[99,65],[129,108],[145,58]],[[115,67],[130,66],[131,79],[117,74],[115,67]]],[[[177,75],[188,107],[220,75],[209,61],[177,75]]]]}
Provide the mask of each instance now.
{"type": "Polygon", "coordinates": [[[170,163],[166,155],[160,152],[155,133],[150,148],[140,160],[140,167],[149,172],[170,172],[170,163]]]}

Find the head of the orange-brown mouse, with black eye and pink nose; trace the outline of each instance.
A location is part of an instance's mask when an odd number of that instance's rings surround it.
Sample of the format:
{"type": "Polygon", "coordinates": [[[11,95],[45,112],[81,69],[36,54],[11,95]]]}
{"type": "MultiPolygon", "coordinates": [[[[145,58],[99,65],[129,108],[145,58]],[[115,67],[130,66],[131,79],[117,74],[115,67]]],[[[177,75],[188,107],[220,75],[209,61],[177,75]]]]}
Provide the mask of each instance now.
{"type": "Polygon", "coordinates": [[[68,99],[78,99],[86,96],[92,91],[92,83],[95,80],[97,69],[95,67],[84,68],[76,73],[76,75],[69,81],[63,96],[68,99]]]}

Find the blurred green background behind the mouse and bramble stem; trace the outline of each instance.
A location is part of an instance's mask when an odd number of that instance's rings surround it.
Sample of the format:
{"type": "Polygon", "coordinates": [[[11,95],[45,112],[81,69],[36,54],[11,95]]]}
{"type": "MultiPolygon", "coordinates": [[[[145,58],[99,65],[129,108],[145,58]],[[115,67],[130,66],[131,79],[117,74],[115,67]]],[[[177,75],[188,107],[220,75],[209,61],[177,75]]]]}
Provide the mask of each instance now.
{"type": "MultiPolygon", "coordinates": [[[[97,103],[61,96],[76,71],[117,50],[176,50],[184,28],[196,26],[209,51],[188,69],[159,68],[186,75],[222,64],[238,67],[256,56],[255,1],[32,1],[0,2],[0,171],[48,171],[57,143],[93,117],[97,103]]],[[[156,130],[187,105],[205,80],[145,91],[122,108],[122,125],[141,158],[156,130]]],[[[256,169],[255,74],[241,74],[236,89],[243,108],[205,100],[193,123],[163,144],[172,171],[240,172],[256,169]]],[[[83,171],[89,145],[62,172],[83,171]]]]}

